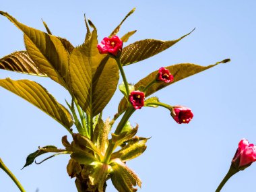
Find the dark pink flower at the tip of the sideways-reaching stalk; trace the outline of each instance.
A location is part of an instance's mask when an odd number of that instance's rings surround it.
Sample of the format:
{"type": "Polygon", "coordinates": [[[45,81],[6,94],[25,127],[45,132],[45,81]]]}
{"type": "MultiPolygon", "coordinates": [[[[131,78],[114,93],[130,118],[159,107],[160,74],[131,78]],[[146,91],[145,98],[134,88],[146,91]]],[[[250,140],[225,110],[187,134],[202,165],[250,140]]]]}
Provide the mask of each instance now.
{"type": "Polygon", "coordinates": [[[189,123],[194,116],[191,109],[185,106],[173,106],[170,115],[172,115],[172,118],[179,124],[189,123]]]}

